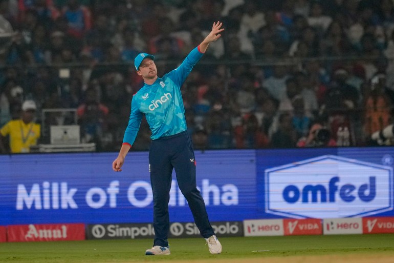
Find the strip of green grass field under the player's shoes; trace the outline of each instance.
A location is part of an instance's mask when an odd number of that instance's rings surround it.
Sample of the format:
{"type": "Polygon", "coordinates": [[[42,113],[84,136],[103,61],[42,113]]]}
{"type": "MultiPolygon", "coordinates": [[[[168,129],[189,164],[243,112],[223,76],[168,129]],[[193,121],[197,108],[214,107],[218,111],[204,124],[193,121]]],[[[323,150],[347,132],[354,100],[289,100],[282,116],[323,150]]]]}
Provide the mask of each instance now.
{"type": "Polygon", "coordinates": [[[211,255],[203,238],[170,239],[171,255],[145,256],[151,239],[0,244],[0,262],[394,262],[394,234],[222,237],[211,255]],[[252,252],[269,250],[267,252],[252,252]]]}

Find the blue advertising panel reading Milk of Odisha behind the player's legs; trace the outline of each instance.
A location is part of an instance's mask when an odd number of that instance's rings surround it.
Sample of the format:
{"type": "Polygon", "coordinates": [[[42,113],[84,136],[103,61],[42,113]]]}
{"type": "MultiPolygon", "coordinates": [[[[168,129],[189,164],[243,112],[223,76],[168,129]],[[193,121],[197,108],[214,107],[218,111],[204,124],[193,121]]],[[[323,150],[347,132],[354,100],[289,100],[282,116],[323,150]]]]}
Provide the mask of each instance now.
{"type": "MultiPolygon", "coordinates": [[[[130,152],[122,172],[117,153],[0,156],[0,225],[150,222],[152,192],[147,152],[130,152]]],[[[256,214],[255,151],[196,152],[197,185],[211,221],[256,214]],[[240,212],[242,211],[242,212],[240,212]]],[[[170,220],[193,217],[172,175],[170,220]]]]}

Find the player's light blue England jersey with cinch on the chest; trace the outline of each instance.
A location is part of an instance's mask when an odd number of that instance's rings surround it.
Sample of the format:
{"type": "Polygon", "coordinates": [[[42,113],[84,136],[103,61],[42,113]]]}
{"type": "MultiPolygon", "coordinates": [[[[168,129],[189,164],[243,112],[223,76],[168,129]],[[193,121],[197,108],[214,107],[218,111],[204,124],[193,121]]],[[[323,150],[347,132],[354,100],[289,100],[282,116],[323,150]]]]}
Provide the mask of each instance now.
{"type": "Polygon", "coordinates": [[[181,86],[200,60],[203,53],[194,48],[182,64],[152,85],[145,84],[132,99],[132,112],[123,137],[123,143],[133,145],[145,114],[152,135],[151,139],[174,135],[186,130],[185,108],[181,86]]]}

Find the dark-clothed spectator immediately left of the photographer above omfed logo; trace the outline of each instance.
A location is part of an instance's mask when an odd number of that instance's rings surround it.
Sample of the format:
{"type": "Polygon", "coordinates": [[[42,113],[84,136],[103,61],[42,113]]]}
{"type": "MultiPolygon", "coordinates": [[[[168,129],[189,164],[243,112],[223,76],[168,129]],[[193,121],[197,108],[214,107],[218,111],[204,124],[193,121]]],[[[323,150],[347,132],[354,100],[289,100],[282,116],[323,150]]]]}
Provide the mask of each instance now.
{"type": "Polygon", "coordinates": [[[292,117],[289,113],[279,115],[279,126],[272,134],[271,146],[274,148],[294,148],[297,134],[293,128],[292,117]]]}

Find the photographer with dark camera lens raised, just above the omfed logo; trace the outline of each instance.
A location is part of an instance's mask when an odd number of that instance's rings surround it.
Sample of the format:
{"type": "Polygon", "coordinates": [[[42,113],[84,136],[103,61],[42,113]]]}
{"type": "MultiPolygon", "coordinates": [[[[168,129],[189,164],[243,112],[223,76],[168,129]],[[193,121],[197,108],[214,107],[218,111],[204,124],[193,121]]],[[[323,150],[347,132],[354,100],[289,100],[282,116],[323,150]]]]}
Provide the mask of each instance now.
{"type": "Polygon", "coordinates": [[[302,137],[297,141],[297,147],[335,147],[335,139],[322,123],[315,122],[309,129],[308,136],[302,137]]]}

